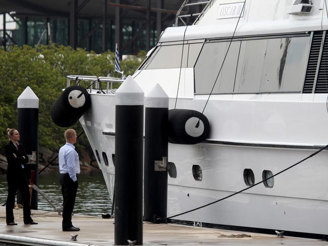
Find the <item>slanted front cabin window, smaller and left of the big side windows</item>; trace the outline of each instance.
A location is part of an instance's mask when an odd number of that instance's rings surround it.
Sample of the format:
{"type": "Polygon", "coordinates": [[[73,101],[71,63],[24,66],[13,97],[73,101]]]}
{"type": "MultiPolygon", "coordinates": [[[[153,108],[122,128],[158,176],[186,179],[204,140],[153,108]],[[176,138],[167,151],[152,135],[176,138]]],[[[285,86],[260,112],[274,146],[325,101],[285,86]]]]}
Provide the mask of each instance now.
{"type": "Polygon", "coordinates": [[[192,68],[202,43],[162,45],[156,48],[142,69],[192,68]],[[183,56],[182,56],[183,50],[183,56]],[[181,64],[182,56],[182,64],[181,64]]]}

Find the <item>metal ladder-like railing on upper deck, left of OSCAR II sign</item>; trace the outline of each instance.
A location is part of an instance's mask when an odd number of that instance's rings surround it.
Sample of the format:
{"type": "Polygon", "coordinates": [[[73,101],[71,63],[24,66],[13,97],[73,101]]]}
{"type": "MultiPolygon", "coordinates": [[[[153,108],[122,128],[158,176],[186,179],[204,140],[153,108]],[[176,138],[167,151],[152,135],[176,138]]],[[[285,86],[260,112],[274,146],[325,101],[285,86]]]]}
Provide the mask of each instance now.
{"type": "MultiPolygon", "coordinates": [[[[188,18],[188,17],[195,17],[197,16],[196,20],[193,22],[192,25],[194,25],[200,18],[200,16],[204,13],[205,9],[207,9],[207,7],[213,2],[213,0],[208,0],[208,1],[194,1],[192,2],[192,0],[185,0],[183,2],[183,4],[181,5],[180,9],[177,12],[176,18],[175,18],[175,26],[179,25],[179,21],[183,23],[184,26],[187,26],[186,22],[184,21],[184,18],[188,18]],[[181,15],[181,13],[183,12],[185,7],[191,7],[191,6],[201,6],[199,8],[199,13],[190,13],[187,15],[181,15]]],[[[184,11],[185,12],[185,11],[184,11]]]]}

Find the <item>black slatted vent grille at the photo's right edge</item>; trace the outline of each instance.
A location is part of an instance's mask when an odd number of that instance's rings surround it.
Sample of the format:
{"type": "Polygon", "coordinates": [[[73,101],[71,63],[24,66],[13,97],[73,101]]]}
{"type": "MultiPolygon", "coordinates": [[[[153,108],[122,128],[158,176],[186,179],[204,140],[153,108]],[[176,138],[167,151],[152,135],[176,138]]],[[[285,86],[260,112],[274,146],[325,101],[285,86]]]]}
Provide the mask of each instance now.
{"type": "Polygon", "coordinates": [[[315,93],[328,92],[328,32],[326,32],[323,50],[321,54],[318,78],[315,85],[315,93]]]}

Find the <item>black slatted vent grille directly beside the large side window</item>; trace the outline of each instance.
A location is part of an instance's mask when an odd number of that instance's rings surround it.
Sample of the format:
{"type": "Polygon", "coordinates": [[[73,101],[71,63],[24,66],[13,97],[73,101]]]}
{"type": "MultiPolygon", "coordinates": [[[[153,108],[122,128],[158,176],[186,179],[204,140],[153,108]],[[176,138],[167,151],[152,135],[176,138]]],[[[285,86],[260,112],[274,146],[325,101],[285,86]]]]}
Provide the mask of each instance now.
{"type": "Polygon", "coordinates": [[[320,55],[321,42],[322,42],[322,31],[314,32],[312,37],[309,60],[306,68],[303,93],[312,93],[316,68],[318,65],[318,60],[320,55]]]}

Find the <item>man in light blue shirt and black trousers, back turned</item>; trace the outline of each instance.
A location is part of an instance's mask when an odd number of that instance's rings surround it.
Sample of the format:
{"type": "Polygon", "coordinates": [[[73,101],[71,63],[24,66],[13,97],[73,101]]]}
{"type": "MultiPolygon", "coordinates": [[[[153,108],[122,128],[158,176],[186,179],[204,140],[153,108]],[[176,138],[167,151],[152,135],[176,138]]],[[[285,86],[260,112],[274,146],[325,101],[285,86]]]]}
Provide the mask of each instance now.
{"type": "Polygon", "coordinates": [[[75,151],[77,134],[75,130],[65,131],[66,144],[59,150],[60,183],[63,194],[63,231],[79,231],[73,226],[72,213],[78,189],[77,174],[80,173],[79,155],[75,151]]]}

